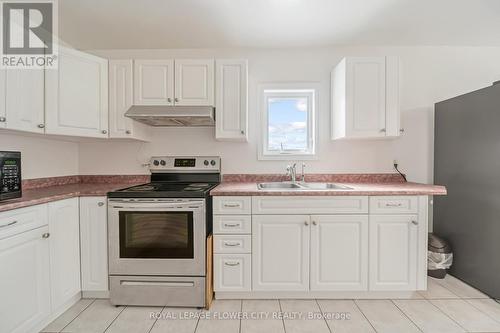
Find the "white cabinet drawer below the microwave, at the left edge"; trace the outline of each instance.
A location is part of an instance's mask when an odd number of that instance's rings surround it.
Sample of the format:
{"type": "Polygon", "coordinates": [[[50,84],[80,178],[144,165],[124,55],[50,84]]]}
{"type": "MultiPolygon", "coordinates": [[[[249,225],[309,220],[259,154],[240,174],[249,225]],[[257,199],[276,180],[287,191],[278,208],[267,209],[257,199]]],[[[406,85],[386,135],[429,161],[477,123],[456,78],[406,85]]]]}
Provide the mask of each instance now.
{"type": "Polygon", "coordinates": [[[36,205],[0,213],[0,239],[48,224],[47,205],[36,205]]]}

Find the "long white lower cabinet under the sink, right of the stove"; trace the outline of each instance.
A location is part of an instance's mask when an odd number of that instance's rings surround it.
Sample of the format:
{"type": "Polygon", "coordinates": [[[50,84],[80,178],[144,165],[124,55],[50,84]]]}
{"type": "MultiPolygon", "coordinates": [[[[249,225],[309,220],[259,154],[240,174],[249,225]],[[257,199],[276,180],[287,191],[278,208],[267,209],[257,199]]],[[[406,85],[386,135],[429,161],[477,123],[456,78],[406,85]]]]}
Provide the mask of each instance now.
{"type": "Polygon", "coordinates": [[[425,289],[427,202],[426,196],[216,197],[214,290],[223,291],[216,297],[248,291],[243,296],[384,298],[425,289]]]}

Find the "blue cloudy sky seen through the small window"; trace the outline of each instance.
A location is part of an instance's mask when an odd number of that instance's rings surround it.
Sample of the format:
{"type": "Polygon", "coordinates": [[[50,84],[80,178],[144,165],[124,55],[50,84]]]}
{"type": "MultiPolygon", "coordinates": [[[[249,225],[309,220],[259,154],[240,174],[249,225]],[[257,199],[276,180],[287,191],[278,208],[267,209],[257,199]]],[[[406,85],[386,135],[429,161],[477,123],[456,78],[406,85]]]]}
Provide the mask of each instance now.
{"type": "Polygon", "coordinates": [[[306,150],[307,98],[268,100],[268,150],[306,150]]]}

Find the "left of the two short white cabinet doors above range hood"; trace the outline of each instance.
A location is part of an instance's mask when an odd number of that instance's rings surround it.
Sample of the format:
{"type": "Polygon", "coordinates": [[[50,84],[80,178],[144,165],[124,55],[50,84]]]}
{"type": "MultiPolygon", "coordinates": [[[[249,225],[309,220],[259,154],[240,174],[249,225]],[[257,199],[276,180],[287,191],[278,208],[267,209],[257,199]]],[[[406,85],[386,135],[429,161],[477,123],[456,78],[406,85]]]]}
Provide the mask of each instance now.
{"type": "Polygon", "coordinates": [[[134,60],[134,104],[174,104],[173,60],[134,60]]]}

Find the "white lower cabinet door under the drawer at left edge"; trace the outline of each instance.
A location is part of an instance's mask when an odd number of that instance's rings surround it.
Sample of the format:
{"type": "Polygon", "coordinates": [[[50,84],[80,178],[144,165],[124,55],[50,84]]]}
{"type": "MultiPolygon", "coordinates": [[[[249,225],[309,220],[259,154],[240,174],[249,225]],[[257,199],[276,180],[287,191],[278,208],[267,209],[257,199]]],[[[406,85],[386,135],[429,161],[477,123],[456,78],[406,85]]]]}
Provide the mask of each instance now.
{"type": "Polygon", "coordinates": [[[0,240],[0,332],[38,332],[50,315],[47,232],[45,226],[0,240]]]}

